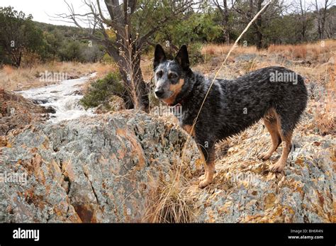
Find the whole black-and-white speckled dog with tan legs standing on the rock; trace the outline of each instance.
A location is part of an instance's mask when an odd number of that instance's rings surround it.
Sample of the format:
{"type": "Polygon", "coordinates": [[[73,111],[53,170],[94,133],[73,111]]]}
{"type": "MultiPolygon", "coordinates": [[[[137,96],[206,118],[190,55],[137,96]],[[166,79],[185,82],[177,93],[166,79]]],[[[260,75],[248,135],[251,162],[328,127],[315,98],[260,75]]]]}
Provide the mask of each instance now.
{"type": "Polygon", "coordinates": [[[215,142],[240,133],[262,118],[271,133],[272,146],[261,158],[267,160],[284,142],[283,155],[271,168],[274,172],[283,170],[293,129],[306,108],[307,90],[300,75],[285,67],[265,67],[233,80],[215,79],[191,132],[212,79],[191,71],[185,45],[175,60],[166,60],[164,50],[157,45],[154,70],[157,98],[170,106],[181,104],[181,126],[194,136],[206,160],[201,187],[212,180],[209,172],[214,172],[215,142]]]}

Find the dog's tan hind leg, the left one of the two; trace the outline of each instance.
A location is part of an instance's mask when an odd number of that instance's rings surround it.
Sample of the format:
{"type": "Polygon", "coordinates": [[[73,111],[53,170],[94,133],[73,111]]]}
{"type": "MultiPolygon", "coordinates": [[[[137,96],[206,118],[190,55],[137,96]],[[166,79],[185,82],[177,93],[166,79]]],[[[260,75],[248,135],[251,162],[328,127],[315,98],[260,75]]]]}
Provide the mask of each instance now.
{"type": "Polygon", "coordinates": [[[260,153],[258,158],[262,160],[269,160],[269,157],[271,157],[273,152],[276,151],[277,147],[279,147],[281,143],[281,135],[279,133],[279,124],[276,117],[264,118],[264,125],[271,135],[271,147],[269,147],[267,152],[260,153]]]}

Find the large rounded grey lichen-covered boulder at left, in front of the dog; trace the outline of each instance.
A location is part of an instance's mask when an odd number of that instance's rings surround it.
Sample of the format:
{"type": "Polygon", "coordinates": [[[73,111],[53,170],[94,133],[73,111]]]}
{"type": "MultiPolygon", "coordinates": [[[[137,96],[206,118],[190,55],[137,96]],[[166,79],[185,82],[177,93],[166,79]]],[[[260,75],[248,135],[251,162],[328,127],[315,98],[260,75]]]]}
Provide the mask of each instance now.
{"type": "MultiPolygon", "coordinates": [[[[136,111],[9,135],[0,172],[28,179],[1,184],[0,221],[140,222],[151,186],[180,159],[185,140],[179,129],[136,111]]],[[[194,145],[185,162],[197,157],[194,145]]]]}

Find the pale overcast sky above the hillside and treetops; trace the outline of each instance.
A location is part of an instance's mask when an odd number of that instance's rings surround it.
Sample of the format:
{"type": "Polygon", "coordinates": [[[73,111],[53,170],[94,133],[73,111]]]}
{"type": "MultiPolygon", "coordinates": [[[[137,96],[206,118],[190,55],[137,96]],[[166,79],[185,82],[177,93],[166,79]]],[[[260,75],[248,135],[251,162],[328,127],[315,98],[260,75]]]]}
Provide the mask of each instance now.
{"type": "MultiPolygon", "coordinates": [[[[296,0],[286,0],[286,2],[292,1],[296,0]]],[[[73,4],[74,9],[79,13],[85,12],[82,0],[67,0],[67,2],[73,4]]],[[[306,2],[311,2],[311,0],[306,0],[306,2]]],[[[324,0],[318,0],[318,2],[321,4],[324,0]]],[[[23,11],[27,15],[31,13],[34,21],[56,25],[70,25],[62,21],[55,21],[55,18],[50,17],[57,13],[68,13],[67,4],[65,4],[64,0],[0,0],[0,6],[13,6],[14,9],[23,11]]]]}

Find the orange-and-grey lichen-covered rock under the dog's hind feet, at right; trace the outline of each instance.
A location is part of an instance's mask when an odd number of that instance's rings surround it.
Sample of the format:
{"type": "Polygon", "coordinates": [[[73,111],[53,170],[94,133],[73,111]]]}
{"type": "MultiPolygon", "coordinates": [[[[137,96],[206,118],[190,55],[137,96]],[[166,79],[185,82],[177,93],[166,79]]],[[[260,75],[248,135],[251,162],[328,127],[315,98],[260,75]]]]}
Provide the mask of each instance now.
{"type": "Polygon", "coordinates": [[[281,149],[267,162],[257,160],[257,153],[270,144],[261,127],[233,138],[228,155],[217,161],[213,184],[196,191],[196,220],[335,223],[335,139],[297,133],[284,174],[274,174],[269,166],[279,159],[281,149]]]}

